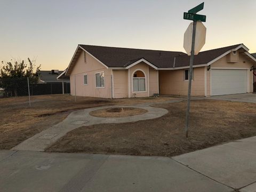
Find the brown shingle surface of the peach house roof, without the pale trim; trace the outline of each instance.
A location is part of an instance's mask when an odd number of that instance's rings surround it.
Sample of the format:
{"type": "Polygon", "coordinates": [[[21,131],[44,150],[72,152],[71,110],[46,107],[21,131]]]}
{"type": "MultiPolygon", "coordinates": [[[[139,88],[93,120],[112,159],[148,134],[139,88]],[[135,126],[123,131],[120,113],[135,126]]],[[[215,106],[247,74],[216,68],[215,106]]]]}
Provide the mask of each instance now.
{"type": "MultiPolygon", "coordinates": [[[[198,55],[195,55],[194,65],[206,64],[223,53],[235,49],[239,45],[241,44],[200,52],[198,55]]],[[[190,60],[190,56],[178,51],[143,50],[94,45],[79,46],[108,67],[127,67],[142,58],[158,68],[173,68],[175,58],[175,67],[185,67],[189,66],[190,60]]]]}

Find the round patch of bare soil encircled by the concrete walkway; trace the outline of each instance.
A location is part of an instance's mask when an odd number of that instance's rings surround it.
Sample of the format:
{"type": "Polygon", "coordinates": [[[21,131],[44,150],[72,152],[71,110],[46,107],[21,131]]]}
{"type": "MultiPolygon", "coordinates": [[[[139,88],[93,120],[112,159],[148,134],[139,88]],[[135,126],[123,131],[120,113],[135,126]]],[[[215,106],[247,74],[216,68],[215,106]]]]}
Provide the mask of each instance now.
{"type": "Polygon", "coordinates": [[[95,117],[127,117],[147,113],[146,109],[134,107],[113,107],[91,111],[89,114],[95,117]]]}

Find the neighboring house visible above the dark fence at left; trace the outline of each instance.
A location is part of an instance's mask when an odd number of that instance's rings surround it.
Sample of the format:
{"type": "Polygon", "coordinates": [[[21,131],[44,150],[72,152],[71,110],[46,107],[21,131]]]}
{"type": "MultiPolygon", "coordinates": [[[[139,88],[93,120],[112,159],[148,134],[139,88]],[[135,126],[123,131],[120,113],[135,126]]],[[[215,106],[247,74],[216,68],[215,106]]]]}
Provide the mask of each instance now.
{"type": "MultiPolygon", "coordinates": [[[[52,73],[52,70],[39,70],[37,71],[39,81],[43,83],[49,83],[49,82],[60,82],[62,79],[57,79],[57,77],[62,73],[63,71],[58,71],[58,73],[52,73]]],[[[68,79],[65,79],[65,81],[69,81],[68,79]]]]}

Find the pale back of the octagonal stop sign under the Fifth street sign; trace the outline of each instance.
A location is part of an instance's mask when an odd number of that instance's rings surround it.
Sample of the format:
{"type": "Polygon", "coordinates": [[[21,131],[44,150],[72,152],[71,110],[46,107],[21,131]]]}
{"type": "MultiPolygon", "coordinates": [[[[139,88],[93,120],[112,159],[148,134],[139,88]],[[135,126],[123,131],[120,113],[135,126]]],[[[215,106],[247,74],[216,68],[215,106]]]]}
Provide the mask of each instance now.
{"type": "MultiPolygon", "coordinates": [[[[191,55],[193,22],[191,22],[184,34],[183,47],[188,55],[191,55]]],[[[199,53],[205,44],[206,27],[201,21],[196,22],[195,55],[199,53]]]]}

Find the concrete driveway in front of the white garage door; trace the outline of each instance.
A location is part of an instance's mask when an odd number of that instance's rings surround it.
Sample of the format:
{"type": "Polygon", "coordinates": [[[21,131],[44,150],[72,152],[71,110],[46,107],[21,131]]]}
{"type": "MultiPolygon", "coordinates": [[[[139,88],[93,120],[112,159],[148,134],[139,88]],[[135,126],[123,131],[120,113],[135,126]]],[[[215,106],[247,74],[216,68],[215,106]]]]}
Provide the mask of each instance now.
{"type": "Polygon", "coordinates": [[[206,99],[256,103],[256,93],[218,95],[218,96],[211,96],[206,99]]]}

